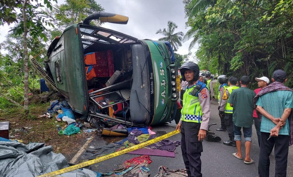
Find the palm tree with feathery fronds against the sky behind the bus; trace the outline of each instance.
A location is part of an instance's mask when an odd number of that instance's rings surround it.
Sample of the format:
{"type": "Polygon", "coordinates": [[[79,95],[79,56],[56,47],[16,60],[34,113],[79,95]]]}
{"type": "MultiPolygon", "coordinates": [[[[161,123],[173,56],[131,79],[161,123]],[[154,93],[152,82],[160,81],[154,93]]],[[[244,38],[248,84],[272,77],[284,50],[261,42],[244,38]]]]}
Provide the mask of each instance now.
{"type": "Polygon", "coordinates": [[[182,46],[181,42],[183,40],[184,33],[182,31],[179,31],[178,33],[173,34],[175,29],[178,28],[178,26],[172,21],[168,21],[167,26],[168,29],[159,29],[157,30],[156,34],[164,35],[165,37],[160,38],[159,40],[170,42],[171,46],[173,47],[173,50],[177,51],[177,47],[182,46]]]}

